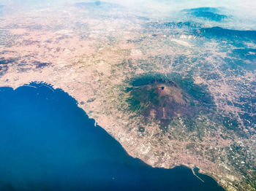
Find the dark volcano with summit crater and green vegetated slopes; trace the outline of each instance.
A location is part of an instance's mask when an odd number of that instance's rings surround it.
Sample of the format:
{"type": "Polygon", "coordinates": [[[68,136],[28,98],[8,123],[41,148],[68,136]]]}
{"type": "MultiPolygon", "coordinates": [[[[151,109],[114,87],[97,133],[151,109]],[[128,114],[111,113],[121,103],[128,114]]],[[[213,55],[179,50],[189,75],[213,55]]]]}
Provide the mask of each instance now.
{"type": "Polygon", "coordinates": [[[129,87],[124,91],[128,110],[162,122],[180,115],[192,117],[200,109],[215,107],[206,87],[196,85],[191,77],[148,73],[127,83],[129,87]]]}

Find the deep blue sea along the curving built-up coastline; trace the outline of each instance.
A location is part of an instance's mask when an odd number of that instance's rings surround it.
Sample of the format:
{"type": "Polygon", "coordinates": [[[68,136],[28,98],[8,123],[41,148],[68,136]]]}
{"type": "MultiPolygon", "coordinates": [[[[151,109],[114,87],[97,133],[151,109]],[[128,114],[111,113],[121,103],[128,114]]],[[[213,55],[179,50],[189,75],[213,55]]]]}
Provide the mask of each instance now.
{"type": "Polygon", "coordinates": [[[62,90],[0,88],[0,190],[222,190],[189,168],[151,168],[62,90]]]}

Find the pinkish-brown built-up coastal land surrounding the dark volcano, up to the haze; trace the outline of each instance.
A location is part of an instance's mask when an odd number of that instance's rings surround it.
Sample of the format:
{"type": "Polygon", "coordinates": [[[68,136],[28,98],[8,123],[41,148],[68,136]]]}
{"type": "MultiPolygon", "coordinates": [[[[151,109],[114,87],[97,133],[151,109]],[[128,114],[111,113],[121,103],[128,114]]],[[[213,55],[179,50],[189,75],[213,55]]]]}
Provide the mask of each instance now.
{"type": "Polygon", "coordinates": [[[86,3],[7,9],[0,30],[0,86],[61,88],[132,157],[255,190],[254,31],[86,3]]]}

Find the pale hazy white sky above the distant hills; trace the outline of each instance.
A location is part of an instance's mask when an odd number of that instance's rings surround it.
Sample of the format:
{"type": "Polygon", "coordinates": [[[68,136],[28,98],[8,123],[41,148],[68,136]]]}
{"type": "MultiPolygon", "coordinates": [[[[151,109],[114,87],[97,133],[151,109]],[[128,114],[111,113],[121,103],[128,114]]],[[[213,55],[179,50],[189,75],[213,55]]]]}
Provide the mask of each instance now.
{"type": "MultiPolygon", "coordinates": [[[[97,0],[96,0],[97,1],[97,0]]],[[[233,20],[227,28],[256,30],[256,0],[105,0],[121,4],[124,7],[141,13],[143,16],[166,20],[178,17],[181,9],[195,7],[224,7],[225,14],[232,15],[233,20]]],[[[88,0],[0,0],[0,4],[8,7],[39,7],[54,5],[70,5],[88,0]]]]}

